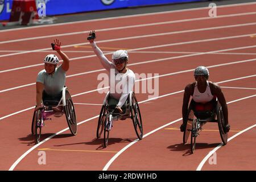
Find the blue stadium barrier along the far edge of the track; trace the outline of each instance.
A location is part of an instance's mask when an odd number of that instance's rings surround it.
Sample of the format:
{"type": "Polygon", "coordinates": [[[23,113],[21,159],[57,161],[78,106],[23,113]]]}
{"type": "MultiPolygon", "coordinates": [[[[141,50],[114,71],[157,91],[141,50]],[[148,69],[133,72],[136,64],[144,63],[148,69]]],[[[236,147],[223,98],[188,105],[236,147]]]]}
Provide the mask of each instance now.
{"type": "MultiPolygon", "coordinates": [[[[206,0],[36,0],[36,5],[44,3],[46,5],[44,12],[47,16],[193,1],[206,0]]],[[[12,5],[13,0],[0,0],[0,20],[10,18],[12,5]]],[[[42,8],[43,6],[38,6],[38,11],[42,11],[42,8]]]]}

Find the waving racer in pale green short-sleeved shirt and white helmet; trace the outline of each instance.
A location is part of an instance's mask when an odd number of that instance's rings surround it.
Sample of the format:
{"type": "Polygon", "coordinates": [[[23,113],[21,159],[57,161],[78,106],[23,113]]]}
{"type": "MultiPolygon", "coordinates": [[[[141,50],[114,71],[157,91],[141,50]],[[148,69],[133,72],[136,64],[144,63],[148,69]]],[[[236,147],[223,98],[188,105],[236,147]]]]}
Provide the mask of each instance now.
{"type": "Polygon", "coordinates": [[[49,54],[44,58],[44,69],[38,73],[36,78],[36,107],[35,110],[43,107],[42,100],[59,100],[61,91],[65,85],[66,72],[69,69],[69,58],[60,50],[59,39],[54,40],[52,48],[63,59],[63,63],[57,67],[59,59],[56,55],[49,54]]]}

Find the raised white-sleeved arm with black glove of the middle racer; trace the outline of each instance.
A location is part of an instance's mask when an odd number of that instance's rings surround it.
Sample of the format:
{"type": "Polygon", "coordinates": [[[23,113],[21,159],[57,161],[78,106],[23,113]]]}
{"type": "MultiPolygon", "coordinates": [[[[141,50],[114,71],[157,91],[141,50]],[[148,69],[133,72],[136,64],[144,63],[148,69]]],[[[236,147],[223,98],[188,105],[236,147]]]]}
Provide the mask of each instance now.
{"type": "MultiPolygon", "coordinates": [[[[88,38],[89,38],[89,37],[92,37],[92,33],[93,33],[93,32],[94,32],[94,31],[90,32],[90,34],[88,35],[88,38]]],[[[95,33],[94,33],[94,35],[95,35],[95,33]]],[[[106,56],[104,55],[104,53],[101,51],[101,49],[98,48],[98,46],[97,46],[96,43],[94,42],[94,39],[95,39],[95,38],[96,38],[96,36],[94,36],[94,37],[91,38],[91,39],[88,39],[89,42],[90,42],[90,46],[92,46],[94,53],[95,53],[95,54],[97,55],[97,57],[100,59],[102,66],[103,66],[106,70],[110,71],[110,69],[111,69],[112,67],[114,67],[114,64],[113,64],[112,62],[110,62],[110,61],[106,58],[106,56]]]]}

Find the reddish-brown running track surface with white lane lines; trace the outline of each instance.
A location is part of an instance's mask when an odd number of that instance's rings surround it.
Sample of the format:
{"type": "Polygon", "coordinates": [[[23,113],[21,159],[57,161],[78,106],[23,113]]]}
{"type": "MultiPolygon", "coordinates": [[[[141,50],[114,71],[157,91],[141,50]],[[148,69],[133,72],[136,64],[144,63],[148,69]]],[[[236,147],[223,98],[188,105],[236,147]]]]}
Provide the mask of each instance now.
{"type": "MultiPolygon", "coordinates": [[[[193,81],[193,69],[198,65],[209,67],[209,80],[220,82],[227,102],[246,98],[228,105],[234,130],[229,137],[255,124],[256,4],[242,7],[220,7],[216,18],[208,16],[208,9],[199,9],[127,16],[122,21],[77,22],[72,29],[61,24],[50,29],[27,28],[18,34],[15,30],[1,32],[0,169],[196,170],[221,143],[216,123],[208,123],[197,138],[195,154],[190,155],[189,144],[182,144],[183,133],[176,130],[180,126],[183,89],[193,81]],[[95,139],[97,115],[105,97],[96,90],[100,82],[97,76],[106,71],[86,42],[90,30],[98,30],[96,42],[109,59],[115,49],[128,49],[130,69],[159,74],[160,98],[148,100],[152,94],[136,94],[138,101],[144,101],[140,107],[144,134],[148,135],[129,147],[137,139],[130,119],[114,122],[107,148],[102,148],[102,138],[95,139]],[[82,123],[78,134],[71,137],[69,130],[62,131],[68,127],[65,118],[53,118],[42,130],[47,141],[35,146],[30,135],[34,82],[43,69],[43,57],[53,53],[49,43],[55,36],[72,59],[66,85],[76,96],[73,101],[80,103],[75,107],[77,121],[82,123]],[[162,127],[172,121],[176,122],[162,127]],[[170,128],[174,130],[166,130],[170,128]],[[38,164],[39,151],[46,152],[46,165],[38,164]]],[[[202,170],[255,170],[255,149],[251,145],[254,133],[255,127],[220,147],[217,164],[209,165],[207,161],[202,170]],[[234,167],[238,163],[239,167],[234,167]]]]}

